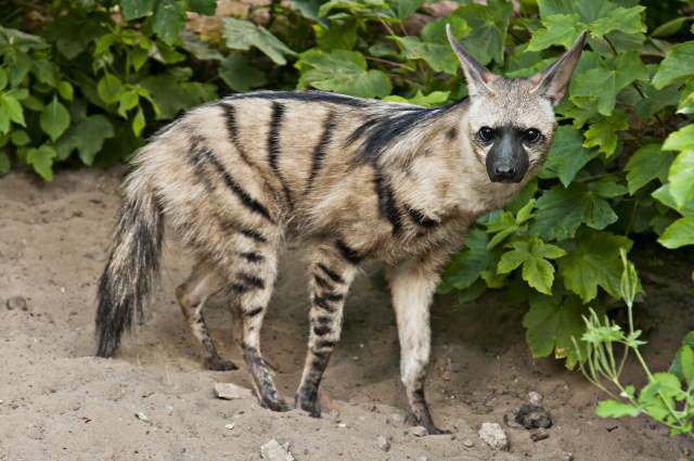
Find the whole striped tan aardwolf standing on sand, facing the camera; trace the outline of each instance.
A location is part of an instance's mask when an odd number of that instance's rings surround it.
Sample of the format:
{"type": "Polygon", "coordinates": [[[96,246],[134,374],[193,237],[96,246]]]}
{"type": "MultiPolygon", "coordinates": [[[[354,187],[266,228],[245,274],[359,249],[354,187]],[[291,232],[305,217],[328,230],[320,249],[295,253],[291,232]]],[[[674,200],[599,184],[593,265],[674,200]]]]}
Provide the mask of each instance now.
{"type": "Polygon", "coordinates": [[[586,33],[529,78],[489,72],[447,29],[468,98],[424,108],[319,91],[235,94],[194,108],[136,155],[99,282],[98,356],[113,356],[159,269],[164,218],[196,258],[176,291],[205,364],[233,370],[202,309],[224,290],[260,405],[288,409],[260,353],[285,235],[312,248],[308,355],[295,405],[320,417],[318,387],[339,340],[347,290],[365,260],[387,266],[410,408],[440,434],[424,398],[429,304],[468,227],[540,168],[553,106],[586,33]]]}

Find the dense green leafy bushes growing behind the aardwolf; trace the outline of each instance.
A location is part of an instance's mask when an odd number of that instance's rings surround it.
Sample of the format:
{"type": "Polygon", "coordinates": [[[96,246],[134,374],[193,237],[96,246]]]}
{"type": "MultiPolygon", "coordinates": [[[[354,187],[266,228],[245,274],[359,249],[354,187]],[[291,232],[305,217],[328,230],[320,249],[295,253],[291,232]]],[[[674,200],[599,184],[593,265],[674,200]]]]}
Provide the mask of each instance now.
{"type": "MultiPolygon", "coordinates": [[[[187,14],[213,14],[214,0],[98,3],[53,1],[39,29],[0,18],[0,172],[25,166],[50,180],[61,164],[112,165],[181,111],[232,91],[446,104],[466,94],[446,24],[479,62],[514,77],[547,67],[588,29],[539,178],[478,220],[439,291],[468,300],[507,289],[530,306],[532,355],[574,366],[587,303],[619,296],[619,252],[638,234],[694,244],[691,2],[524,0],[515,12],[504,0],[461,2],[414,33],[408,18],[422,0],[292,0],[200,34],[187,14]]],[[[12,17],[28,15],[16,9],[12,17]]]]}

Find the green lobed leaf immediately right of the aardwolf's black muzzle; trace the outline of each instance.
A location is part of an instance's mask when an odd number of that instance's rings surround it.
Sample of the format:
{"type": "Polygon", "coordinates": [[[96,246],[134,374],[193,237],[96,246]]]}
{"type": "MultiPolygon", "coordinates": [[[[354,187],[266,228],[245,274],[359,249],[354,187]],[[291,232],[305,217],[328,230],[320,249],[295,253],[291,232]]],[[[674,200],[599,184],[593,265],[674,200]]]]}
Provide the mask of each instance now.
{"type": "Polygon", "coordinates": [[[556,129],[554,142],[542,166],[541,178],[560,178],[565,188],[571,183],[576,174],[597,153],[582,145],[580,131],[570,125],[562,125],[556,129]]]}

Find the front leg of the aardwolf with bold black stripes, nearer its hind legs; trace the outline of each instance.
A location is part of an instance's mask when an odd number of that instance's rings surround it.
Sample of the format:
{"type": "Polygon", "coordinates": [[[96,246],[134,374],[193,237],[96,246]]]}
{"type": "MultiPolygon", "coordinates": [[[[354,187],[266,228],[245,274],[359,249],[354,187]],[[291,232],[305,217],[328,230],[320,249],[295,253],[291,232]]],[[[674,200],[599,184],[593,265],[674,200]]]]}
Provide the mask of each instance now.
{"type": "Polygon", "coordinates": [[[345,296],[357,270],[355,262],[355,258],[346,260],[327,244],[319,246],[312,256],[308,354],[295,404],[313,418],[321,415],[318,386],[339,341],[345,296]]]}

